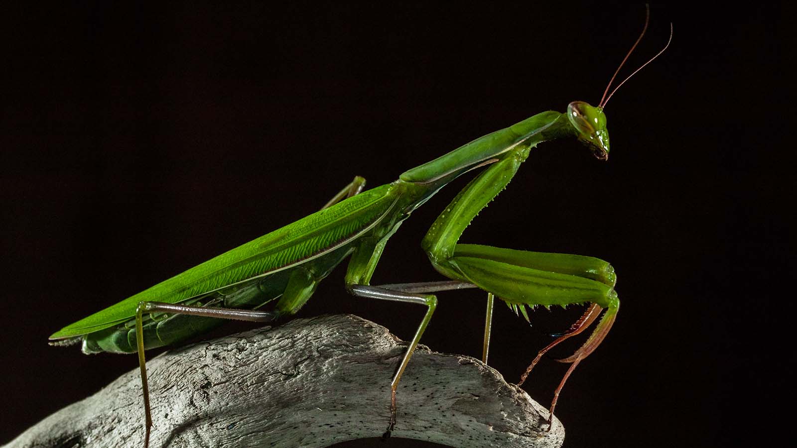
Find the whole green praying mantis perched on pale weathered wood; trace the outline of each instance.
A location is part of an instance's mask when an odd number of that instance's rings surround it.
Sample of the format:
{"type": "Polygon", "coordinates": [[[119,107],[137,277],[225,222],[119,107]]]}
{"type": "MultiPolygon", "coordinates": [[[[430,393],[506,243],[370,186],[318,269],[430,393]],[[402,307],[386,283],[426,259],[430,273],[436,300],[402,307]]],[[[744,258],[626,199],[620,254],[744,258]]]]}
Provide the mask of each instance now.
{"type": "MultiPolygon", "coordinates": [[[[646,28],[647,18],[642,34],[626,59],[646,28]]],[[[669,41],[650,61],[667,46],[669,41]]],[[[391,417],[386,436],[396,424],[398,383],[437,307],[434,293],[464,288],[478,288],[487,293],[485,362],[495,297],[505,301],[526,320],[527,308],[536,305],[587,305],[586,311],[567,332],[540,350],[521,375],[519,385],[546,352],[583,332],[603,312],[581,348],[560,360],[571,365],[554,392],[548,417],[550,427],[559,392],[567,378],[601,344],[617,316],[620,302],[614,291],[614,269],[607,261],[595,257],[460,244],[458,241],[479,211],[507,187],[521,163],[539,143],[575,137],[585,143],[595,157],[607,160],[610,147],[603,108],[619,88],[618,85],[607,95],[617,73],[597,107],[573,101],[567,105],[566,112],[541,112],[404,171],[395,182],[371,190],[363,191],[365,179],[355,177],[316,213],[69,324],[49,339],[56,341],[53,344],[80,343],[87,354],[138,353],[146,446],[152,426],[144,357],[147,348],[178,343],[214,328],[224,319],[269,323],[296,314],[319,282],[348,258],[345,284],[349,293],[426,307],[426,314],[391,380],[391,417]],[[422,248],[434,269],[449,280],[370,285],[388,239],[413,210],[453,179],[479,169],[481,173],[453,198],[422,240],[422,248]],[[276,305],[272,309],[261,309],[273,301],[276,305]]]]}

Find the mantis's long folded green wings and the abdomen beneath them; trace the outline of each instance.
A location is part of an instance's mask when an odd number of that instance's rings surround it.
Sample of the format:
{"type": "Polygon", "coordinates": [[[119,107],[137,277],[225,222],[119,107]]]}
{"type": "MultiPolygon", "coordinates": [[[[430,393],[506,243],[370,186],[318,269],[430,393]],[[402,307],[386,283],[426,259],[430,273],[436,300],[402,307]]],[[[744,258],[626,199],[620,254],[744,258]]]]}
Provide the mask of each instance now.
{"type": "MultiPolygon", "coordinates": [[[[283,293],[293,267],[310,264],[314,271],[328,273],[340,263],[360,234],[375,226],[391,209],[395,199],[387,194],[390,187],[384,185],[365,191],[222,253],[77,321],[54,333],[50,339],[90,336],[90,352],[135,352],[135,335],[130,333],[133,332],[135,308],[140,301],[230,308],[256,308],[263,305],[283,293]],[[96,343],[97,340],[100,340],[100,344],[96,343]]],[[[147,333],[150,330],[150,336],[153,336],[159,327],[159,334],[171,337],[145,337],[147,347],[184,339],[212,328],[219,321],[197,316],[171,316],[167,324],[167,316],[162,317],[164,319],[160,322],[148,322],[144,331],[147,333]],[[179,337],[175,337],[178,334],[179,337]]]]}

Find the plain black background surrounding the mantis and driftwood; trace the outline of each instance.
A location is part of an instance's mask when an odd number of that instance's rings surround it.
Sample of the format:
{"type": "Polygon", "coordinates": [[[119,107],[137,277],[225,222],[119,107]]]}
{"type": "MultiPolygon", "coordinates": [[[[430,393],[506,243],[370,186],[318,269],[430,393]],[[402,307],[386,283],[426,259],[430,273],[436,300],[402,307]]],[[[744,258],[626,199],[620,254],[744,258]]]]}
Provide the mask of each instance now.
{"type": "MultiPolygon", "coordinates": [[[[2,10],[0,442],[135,367],[49,347],[52,332],[316,210],[353,175],[388,183],[534,113],[597,104],[644,19],[642,4],[105,3],[2,10]]],[[[608,163],[545,143],[465,232],[618,272],[618,320],[559,400],[565,446],[727,446],[782,429],[788,17],[654,5],[623,73],[669,22],[673,43],[608,104],[608,163]]],[[[402,226],[374,284],[439,278],[419,242],[464,185],[402,226]]],[[[343,273],[300,316],[412,335],[422,309],[348,297],[343,273]]],[[[479,356],[483,302],[441,293],[422,343],[479,356]]],[[[578,315],[536,311],[528,328],[497,304],[490,364],[515,380],[578,315]]],[[[544,361],[526,389],[547,405],[566,368],[544,361]]]]}

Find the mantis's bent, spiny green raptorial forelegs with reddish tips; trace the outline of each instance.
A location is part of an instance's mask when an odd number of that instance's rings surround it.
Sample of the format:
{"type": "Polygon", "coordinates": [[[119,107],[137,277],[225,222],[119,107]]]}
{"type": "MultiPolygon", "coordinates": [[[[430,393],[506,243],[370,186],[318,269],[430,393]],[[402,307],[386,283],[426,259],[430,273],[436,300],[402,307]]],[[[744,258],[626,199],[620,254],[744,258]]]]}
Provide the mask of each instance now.
{"type": "Polygon", "coordinates": [[[545,352],[568,337],[582,332],[603,308],[607,308],[603,320],[583,347],[573,356],[562,360],[572,365],[554,393],[548,417],[550,424],[556,400],[567,377],[606,336],[614,322],[619,301],[617,293],[614,293],[614,269],[598,258],[457,244],[471,220],[507,186],[527,155],[528,151],[516,151],[513,157],[493,163],[473,179],[432,224],[422,245],[438,272],[446,277],[477,285],[489,293],[485,321],[485,360],[489,346],[493,294],[507,302],[516,312],[522,312],[527,320],[526,306],[592,304],[570,331],[538,353],[521,378],[521,383],[545,352]]]}

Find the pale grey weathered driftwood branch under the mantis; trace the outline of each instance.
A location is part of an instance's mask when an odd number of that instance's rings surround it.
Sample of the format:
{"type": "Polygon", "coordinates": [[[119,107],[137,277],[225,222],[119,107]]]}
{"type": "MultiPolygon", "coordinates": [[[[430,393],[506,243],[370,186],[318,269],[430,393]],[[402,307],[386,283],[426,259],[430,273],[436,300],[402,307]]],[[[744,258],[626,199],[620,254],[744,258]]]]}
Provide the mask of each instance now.
{"type": "MultiPolygon", "coordinates": [[[[387,328],[339,315],[171,350],[147,364],[150,446],[329,446],[379,437],[405,348],[387,328]]],[[[561,446],[563,427],[555,419],[546,432],[547,415],[480,361],[419,346],[398,387],[393,437],[447,446],[561,446]]],[[[7,446],[143,446],[143,434],[136,369],[7,446]]]]}

